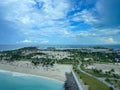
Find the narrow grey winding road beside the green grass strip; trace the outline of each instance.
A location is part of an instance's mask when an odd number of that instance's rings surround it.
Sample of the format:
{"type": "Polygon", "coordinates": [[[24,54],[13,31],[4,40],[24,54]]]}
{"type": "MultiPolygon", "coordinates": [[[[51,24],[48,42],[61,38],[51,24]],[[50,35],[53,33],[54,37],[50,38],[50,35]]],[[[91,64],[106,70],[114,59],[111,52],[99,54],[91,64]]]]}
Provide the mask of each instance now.
{"type": "Polygon", "coordinates": [[[82,73],[87,74],[88,76],[91,76],[91,77],[93,77],[93,78],[95,78],[95,79],[103,82],[103,83],[106,84],[108,87],[112,87],[114,90],[118,90],[118,89],[116,89],[113,85],[107,83],[107,82],[105,81],[105,78],[99,78],[99,77],[96,77],[96,76],[94,76],[94,75],[92,75],[92,74],[89,74],[89,73],[83,71],[83,70],[80,68],[81,64],[82,64],[82,62],[79,61],[79,64],[78,64],[78,67],[77,67],[77,68],[78,68],[78,70],[80,70],[82,73]]]}

